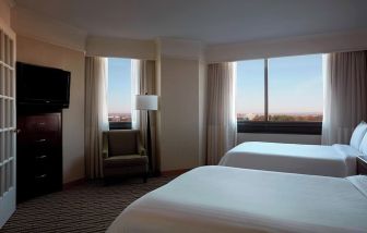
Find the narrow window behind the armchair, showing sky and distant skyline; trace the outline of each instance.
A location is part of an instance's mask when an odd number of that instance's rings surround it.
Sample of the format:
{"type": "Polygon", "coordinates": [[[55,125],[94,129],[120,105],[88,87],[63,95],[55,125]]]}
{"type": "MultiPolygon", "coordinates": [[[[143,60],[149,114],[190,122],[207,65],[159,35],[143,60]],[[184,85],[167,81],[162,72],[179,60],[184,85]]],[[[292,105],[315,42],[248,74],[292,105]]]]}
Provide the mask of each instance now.
{"type": "Polygon", "coordinates": [[[131,60],[108,58],[108,122],[110,130],[131,128],[131,60]]]}

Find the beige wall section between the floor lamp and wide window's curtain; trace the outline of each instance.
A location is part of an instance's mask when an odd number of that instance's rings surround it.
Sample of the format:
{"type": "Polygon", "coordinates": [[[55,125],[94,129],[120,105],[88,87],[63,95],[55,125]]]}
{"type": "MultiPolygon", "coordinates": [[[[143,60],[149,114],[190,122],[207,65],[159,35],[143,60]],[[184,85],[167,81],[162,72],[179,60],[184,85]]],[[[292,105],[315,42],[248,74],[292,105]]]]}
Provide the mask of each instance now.
{"type": "Polygon", "coordinates": [[[201,44],[158,39],[158,137],[162,171],[198,167],[204,157],[205,64],[201,44]]]}

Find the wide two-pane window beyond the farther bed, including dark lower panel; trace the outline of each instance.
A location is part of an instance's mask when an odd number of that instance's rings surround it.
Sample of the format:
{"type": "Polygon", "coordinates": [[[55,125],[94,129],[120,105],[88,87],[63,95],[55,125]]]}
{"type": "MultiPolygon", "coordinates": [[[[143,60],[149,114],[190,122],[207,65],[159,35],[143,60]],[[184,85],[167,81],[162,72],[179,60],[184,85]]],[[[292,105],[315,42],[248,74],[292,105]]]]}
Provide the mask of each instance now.
{"type": "Polygon", "coordinates": [[[322,54],[237,62],[239,132],[320,134],[322,54]]]}

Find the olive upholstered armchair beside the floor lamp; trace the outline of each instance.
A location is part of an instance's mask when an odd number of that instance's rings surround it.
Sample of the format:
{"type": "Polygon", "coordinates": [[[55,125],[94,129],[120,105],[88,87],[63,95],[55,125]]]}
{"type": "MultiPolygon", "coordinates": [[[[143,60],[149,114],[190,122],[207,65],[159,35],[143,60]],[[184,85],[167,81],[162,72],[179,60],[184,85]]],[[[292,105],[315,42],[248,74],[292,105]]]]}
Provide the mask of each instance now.
{"type": "Polygon", "coordinates": [[[103,173],[110,177],[142,175],[147,177],[147,157],[137,130],[107,131],[103,134],[103,173]]]}

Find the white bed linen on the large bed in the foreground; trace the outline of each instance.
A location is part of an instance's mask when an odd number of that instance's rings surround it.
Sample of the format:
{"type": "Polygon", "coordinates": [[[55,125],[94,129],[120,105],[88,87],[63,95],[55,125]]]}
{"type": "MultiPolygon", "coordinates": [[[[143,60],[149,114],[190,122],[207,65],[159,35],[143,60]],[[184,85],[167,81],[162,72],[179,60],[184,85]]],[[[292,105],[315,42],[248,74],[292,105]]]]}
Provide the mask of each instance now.
{"type": "Polygon", "coordinates": [[[366,232],[366,186],[352,181],[367,179],[201,167],[132,203],[107,232],[366,232]]]}

